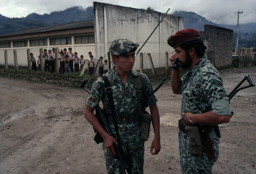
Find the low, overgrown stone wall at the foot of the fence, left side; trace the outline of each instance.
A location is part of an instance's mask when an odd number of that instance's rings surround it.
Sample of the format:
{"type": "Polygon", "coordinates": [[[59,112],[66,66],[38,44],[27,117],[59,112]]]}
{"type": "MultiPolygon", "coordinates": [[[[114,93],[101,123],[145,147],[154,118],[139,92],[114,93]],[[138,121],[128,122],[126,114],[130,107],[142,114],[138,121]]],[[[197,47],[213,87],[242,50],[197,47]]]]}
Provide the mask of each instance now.
{"type": "Polygon", "coordinates": [[[7,72],[0,72],[0,76],[17,78],[17,79],[26,79],[26,80],[32,80],[32,81],[49,82],[49,83],[61,84],[63,86],[70,86],[70,87],[80,87],[80,84],[82,84],[83,82],[79,79],[49,77],[49,76],[40,76],[40,75],[31,75],[31,74],[13,74],[13,73],[7,73],[7,72]]]}

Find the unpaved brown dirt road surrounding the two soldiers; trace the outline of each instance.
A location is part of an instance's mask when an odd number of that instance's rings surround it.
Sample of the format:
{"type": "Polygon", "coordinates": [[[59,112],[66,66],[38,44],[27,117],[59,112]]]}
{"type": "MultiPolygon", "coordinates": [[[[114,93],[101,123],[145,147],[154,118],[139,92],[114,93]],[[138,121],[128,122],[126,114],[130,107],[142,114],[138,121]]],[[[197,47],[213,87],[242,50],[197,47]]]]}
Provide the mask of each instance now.
{"type": "MultiPolygon", "coordinates": [[[[256,68],[221,73],[226,91],[246,74],[256,82],[256,68]]],[[[145,174],[181,174],[178,128],[166,126],[168,121],[177,123],[178,118],[166,121],[166,113],[180,115],[181,96],[170,88],[165,84],[156,92],[162,149],[150,155],[151,131],[145,144],[145,174]]],[[[93,141],[92,126],[83,116],[87,97],[80,88],[0,77],[0,174],[106,173],[101,144],[93,141]]],[[[234,116],[220,125],[220,158],[213,173],[255,174],[256,87],[238,92],[230,106],[234,116]]]]}

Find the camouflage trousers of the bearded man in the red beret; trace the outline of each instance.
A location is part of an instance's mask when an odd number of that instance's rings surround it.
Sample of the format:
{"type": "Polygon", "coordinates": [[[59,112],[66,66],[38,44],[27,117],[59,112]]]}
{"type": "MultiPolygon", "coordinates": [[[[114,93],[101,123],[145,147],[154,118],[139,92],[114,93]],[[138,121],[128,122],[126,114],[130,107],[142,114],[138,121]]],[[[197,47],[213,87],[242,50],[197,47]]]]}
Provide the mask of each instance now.
{"type": "Polygon", "coordinates": [[[214,131],[209,133],[214,149],[214,159],[209,161],[205,148],[203,148],[203,155],[191,156],[190,147],[188,145],[188,135],[179,130],[179,149],[180,149],[180,165],[183,174],[212,174],[212,167],[219,158],[219,143],[214,131]]]}

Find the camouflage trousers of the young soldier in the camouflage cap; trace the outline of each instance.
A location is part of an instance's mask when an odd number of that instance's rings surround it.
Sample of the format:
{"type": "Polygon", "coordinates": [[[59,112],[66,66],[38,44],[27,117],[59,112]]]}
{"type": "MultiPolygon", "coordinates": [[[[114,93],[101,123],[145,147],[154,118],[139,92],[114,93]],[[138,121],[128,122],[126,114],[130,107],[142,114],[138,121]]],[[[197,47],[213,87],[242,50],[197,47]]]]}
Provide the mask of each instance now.
{"type": "MultiPolygon", "coordinates": [[[[105,155],[107,174],[122,173],[118,159],[116,159],[110,155],[104,142],[102,144],[102,148],[104,150],[104,155],[105,155]]],[[[129,166],[129,168],[126,169],[127,173],[128,174],[143,174],[144,151],[145,151],[144,141],[141,141],[140,146],[132,153],[129,151],[128,146],[127,147],[122,146],[122,151],[124,154],[125,161],[127,162],[127,165],[129,166]]]]}

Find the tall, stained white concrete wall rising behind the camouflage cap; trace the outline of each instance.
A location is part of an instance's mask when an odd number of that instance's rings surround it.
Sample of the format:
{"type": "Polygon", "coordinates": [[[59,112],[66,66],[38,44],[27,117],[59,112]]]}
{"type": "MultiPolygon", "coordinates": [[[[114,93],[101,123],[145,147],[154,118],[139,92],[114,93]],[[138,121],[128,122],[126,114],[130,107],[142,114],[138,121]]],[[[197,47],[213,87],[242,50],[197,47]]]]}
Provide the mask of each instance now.
{"type": "MultiPolygon", "coordinates": [[[[93,5],[97,57],[106,55],[110,43],[119,38],[130,39],[139,43],[141,47],[164,16],[164,13],[160,12],[99,2],[93,2],[93,5]]],[[[171,52],[172,48],[166,40],[181,29],[183,29],[183,17],[167,14],[140,52],[171,52]]]]}

